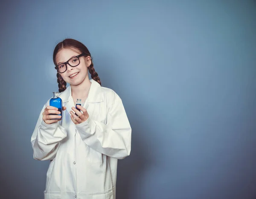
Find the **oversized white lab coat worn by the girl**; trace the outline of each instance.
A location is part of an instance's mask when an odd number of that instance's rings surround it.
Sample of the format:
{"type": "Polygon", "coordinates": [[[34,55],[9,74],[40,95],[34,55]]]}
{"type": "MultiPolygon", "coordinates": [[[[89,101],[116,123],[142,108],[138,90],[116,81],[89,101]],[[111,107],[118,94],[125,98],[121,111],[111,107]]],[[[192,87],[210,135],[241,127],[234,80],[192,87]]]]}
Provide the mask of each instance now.
{"type": "Polygon", "coordinates": [[[117,160],[130,155],[131,126],[120,97],[90,80],[83,107],[89,118],[75,125],[70,86],[60,93],[62,120],[46,124],[44,108],[31,137],[33,157],[50,160],[45,199],[115,199],[117,160]]]}

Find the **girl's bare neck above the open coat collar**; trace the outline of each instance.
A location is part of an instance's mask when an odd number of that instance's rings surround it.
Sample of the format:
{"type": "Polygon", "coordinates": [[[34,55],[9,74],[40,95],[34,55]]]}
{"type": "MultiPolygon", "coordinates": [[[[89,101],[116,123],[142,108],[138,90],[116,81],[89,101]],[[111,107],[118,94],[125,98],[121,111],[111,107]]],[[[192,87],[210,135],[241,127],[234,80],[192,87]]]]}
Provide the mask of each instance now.
{"type": "Polygon", "coordinates": [[[72,97],[85,99],[88,96],[90,90],[91,82],[89,80],[88,75],[85,77],[84,81],[79,85],[70,85],[72,97]]]}

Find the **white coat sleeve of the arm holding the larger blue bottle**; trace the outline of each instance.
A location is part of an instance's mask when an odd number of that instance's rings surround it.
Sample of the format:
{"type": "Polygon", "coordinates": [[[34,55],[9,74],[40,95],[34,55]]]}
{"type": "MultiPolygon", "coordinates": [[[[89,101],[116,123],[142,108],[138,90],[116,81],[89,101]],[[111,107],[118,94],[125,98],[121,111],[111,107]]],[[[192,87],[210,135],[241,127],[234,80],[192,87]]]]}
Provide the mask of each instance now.
{"type": "Polygon", "coordinates": [[[31,137],[33,158],[37,160],[52,160],[55,158],[60,141],[67,136],[67,131],[58,124],[46,124],[43,120],[44,105],[31,137]]]}

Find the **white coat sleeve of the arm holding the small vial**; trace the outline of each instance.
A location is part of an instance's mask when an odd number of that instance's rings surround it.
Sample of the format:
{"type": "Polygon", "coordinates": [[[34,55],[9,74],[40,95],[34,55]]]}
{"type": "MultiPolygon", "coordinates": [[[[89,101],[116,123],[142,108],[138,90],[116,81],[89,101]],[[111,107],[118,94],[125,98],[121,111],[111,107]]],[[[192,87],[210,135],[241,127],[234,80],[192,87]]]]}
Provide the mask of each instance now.
{"type": "Polygon", "coordinates": [[[81,139],[94,150],[124,159],[131,152],[131,126],[119,96],[108,109],[107,124],[91,119],[76,125],[81,139]]]}

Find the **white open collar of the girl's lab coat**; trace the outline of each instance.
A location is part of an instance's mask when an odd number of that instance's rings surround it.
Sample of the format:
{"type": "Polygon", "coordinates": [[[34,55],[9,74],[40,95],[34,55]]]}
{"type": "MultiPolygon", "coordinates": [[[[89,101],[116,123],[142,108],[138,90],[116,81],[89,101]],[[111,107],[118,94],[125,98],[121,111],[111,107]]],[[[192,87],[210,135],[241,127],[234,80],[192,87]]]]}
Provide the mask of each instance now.
{"type": "MultiPolygon", "coordinates": [[[[90,90],[87,97],[87,102],[88,103],[103,102],[101,85],[93,79],[91,79],[90,82],[91,82],[91,85],[90,85],[90,90]]],[[[71,94],[72,94],[71,87],[69,85],[65,91],[60,93],[59,97],[62,99],[62,102],[65,103],[70,100],[73,100],[71,94]]]]}

